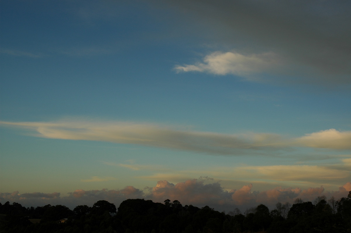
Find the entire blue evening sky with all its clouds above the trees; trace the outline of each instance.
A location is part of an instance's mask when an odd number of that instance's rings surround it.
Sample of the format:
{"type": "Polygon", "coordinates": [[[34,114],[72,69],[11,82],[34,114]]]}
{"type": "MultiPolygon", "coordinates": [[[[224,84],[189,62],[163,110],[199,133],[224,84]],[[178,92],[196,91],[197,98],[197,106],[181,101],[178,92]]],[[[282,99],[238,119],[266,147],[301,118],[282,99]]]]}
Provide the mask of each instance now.
{"type": "Polygon", "coordinates": [[[350,1],[0,4],[0,203],[351,191],[350,1]]]}

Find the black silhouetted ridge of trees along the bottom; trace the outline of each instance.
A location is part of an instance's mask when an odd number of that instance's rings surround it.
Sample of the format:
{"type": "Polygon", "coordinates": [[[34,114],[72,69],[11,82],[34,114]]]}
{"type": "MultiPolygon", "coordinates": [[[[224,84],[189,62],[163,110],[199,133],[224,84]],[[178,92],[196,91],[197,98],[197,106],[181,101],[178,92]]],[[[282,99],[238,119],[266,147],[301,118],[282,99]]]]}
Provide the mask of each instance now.
{"type": "Polygon", "coordinates": [[[269,210],[263,204],[236,208],[225,214],[209,206],[202,208],[166,199],[164,204],[151,200],[127,199],[117,208],[105,200],[92,207],[79,205],[73,210],[63,205],[23,207],[19,203],[0,203],[0,233],[302,233],[351,232],[351,198],[326,199],[314,203],[296,199],[269,210]],[[35,220],[37,219],[37,220],[35,220]],[[34,221],[35,220],[35,221],[34,221]],[[38,222],[39,223],[33,223],[38,222]]]}

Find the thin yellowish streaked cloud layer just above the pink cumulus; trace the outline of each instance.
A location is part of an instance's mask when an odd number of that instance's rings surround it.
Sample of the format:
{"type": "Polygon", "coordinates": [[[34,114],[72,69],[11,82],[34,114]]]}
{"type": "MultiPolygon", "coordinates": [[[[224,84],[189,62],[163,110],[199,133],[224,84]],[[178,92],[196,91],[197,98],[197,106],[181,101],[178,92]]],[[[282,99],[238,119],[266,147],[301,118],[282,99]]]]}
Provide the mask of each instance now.
{"type": "MultiPolygon", "coordinates": [[[[201,176],[205,171],[208,176],[216,177],[216,181],[226,180],[229,183],[242,183],[247,182],[247,180],[254,183],[254,180],[258,183],[270,185],[284,182],[290,185],[303,183],[334,186],[336,182],[351,179],[350,169],[346,167],[348,160],[345,159],[342,162],[345,164],[341,164],[337,168],[317,165],[209,166],[201,167],[201,169],[178,170],[177,172],[172,170],[154,172],[138,178],[154,181],[166,179],[172,182],[180,182],[181,180],[190,179],[190,177],[201,176]],[[235,181],[233,177],[235,177],[235,181]]],[[[228,189],[228,185],[225,188],[228,189]]]]}

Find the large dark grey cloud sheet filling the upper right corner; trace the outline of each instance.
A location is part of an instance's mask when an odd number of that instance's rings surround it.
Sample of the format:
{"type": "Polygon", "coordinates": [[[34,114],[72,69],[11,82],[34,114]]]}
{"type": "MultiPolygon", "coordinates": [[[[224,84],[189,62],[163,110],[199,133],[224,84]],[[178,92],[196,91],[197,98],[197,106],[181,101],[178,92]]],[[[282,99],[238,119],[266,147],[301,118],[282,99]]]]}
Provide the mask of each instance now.
{"type": "Polygon", "coordinates": [[[208,25],[208,30],[215,32],[217,43],[227,44],[243,54],[274,52],[283,57],[289,63],[290,75],[302,76],[294,80],[286,78],[285,82],[350,84],[350,1],[169,0],[167,3],[208,25]]]}

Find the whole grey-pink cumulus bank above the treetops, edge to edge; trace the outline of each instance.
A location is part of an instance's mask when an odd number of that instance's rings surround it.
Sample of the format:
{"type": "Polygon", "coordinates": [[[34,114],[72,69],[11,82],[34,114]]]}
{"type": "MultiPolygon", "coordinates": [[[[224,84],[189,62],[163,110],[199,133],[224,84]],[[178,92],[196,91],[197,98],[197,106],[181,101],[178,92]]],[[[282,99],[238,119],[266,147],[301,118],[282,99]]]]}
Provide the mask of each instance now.
{"type": "MultiPolygon", "coordinates": [[[[209,181],[210,179],[207,179],[209,181]]],[[[144,198],[163,203],[164,200],[178,200],[183,205],[195,205],[203,207],[205,205],[216,210],[230,211],[236,207],[241,210],[256,207],[264,204],[269,208],[280,201],[293,203],[296,198],[303,201],[313,201],[318,196],[325,195],[327,198],[334,196],[336,199],[346,197],[351,190],[351,183],[348,182],[341,186],[338,191],[326,191],[323,186],[300,188],[281,188],[276,187],[264,191],[252,191],[253,185],[247,184],[239,189],[231,191],[224,190],[219,182],[205,184],[206,179],[188,179],[177,184],[172,184],[167,180],[160,180],[155,187],[151,187],[148,192],[139,190],[133,186],[126,186],[121,190],[75,190],[68,193],[68,196],[61,197],[60,193],[23,193],[18,191],[13,193],[0,193],[0,202],[17,202],[26,207],[51,205],[65,205],[74,208],[77,205],[92,206],[98,200],[107,200],[119,206],[126,199],[144,198]]]]}

